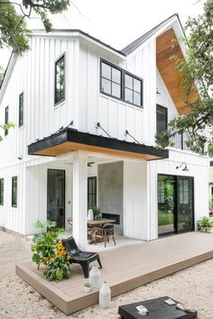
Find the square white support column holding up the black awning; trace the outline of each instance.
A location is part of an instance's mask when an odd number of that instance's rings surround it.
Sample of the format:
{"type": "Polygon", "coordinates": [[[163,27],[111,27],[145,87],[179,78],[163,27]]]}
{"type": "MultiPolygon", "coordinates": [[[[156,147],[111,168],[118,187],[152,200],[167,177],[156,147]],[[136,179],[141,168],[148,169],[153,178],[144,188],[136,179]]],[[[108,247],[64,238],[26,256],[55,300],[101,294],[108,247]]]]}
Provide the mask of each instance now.
{"type": "Polygon", "coordinates": [[[80,249],[87,245],[87,186],[88,156],[86,153],[73,153],[73,237],[80,249]]]}

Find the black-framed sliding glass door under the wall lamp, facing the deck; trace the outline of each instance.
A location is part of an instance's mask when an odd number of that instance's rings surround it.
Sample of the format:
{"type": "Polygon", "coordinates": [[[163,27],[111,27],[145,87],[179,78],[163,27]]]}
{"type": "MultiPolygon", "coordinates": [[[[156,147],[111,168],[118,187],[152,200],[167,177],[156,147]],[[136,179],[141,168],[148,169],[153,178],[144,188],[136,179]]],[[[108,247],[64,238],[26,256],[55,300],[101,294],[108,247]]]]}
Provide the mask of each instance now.
{"type": "Polygon", "coordinates": [[[194,229],[193,178],[158,175],[158,233],[194,229]]]}

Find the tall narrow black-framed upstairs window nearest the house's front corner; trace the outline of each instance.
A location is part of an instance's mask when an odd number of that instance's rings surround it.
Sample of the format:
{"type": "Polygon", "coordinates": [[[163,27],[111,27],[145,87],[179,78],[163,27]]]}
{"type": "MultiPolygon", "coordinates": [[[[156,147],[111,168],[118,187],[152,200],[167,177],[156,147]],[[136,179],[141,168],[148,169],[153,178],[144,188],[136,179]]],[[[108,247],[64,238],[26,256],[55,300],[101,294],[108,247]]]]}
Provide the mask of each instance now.
{"type": "Polygon", "coordinates": [[[55,63],[55,104],[65,99],[65,56],[55,63]]]}

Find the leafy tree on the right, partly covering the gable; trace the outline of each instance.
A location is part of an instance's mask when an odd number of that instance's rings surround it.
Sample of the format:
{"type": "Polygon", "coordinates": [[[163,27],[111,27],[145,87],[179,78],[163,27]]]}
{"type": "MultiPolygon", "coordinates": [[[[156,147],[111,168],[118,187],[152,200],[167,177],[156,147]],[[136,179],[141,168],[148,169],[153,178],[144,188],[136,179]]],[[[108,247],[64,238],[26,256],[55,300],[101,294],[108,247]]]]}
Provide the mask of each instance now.
{"type": "Polygon", "coordinates": [[[199,89],[199,98],[188,105],[189,113],[171,120],[165,132],[156,134],[158,147],[172,146],[176,134],[188,132],[190,150],[213,156],[213,0],[204,4],[203,14],[189,18],[185,25],[187,59],[176,59],[176,68],[182,73],[182,87],[189,95],[199,89]]]}

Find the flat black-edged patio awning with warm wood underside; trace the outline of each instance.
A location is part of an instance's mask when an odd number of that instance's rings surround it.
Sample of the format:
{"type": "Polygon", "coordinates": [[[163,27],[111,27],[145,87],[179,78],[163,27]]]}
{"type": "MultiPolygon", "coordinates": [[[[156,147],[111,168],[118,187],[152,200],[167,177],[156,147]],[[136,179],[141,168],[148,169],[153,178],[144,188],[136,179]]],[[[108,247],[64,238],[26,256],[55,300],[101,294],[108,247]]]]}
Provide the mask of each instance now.
{"type": "Polygon", "coordinates": [[[153,146],[79,132],[70,128],[28,145],[29,155],[57,157],[75,150],[86,150],[138,160],[169,158],[169,150],[157,150],[153,146]]]}

